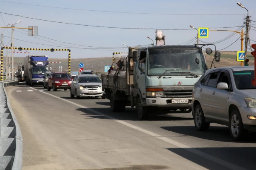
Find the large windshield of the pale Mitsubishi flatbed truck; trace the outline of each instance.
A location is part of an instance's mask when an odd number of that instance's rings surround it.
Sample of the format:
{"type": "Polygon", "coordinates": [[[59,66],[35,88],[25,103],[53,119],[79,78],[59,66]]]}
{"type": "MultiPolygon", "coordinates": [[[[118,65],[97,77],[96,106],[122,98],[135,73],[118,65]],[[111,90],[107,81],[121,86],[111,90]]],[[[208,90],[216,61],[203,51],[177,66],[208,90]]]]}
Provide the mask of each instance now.
{"type": "Polygon", "coordinates": [[[164,75],[202,75],[206,63],[200,49],[157,49],[148,52],[147,70],[150,76],[159,76],[166,70],[170,71],[164,75]]]}

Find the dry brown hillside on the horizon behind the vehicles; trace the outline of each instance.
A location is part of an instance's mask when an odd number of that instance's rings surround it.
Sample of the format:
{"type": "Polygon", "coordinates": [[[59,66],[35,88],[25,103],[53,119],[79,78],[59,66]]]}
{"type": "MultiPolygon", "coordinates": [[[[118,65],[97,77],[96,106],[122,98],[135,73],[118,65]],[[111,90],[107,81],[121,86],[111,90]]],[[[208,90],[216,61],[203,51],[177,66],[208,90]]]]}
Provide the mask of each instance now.
{"type": "MultiPolygon", "coordinates": [[[[250,57],[251,54],[248,54],[249,56],[249,65],[254,66],[254,57],[250,57]]],[[[236,60],[237,52],[236,51],[224,51],[221,52],[221,59],[220,62],[215,62],[215,67],[225,67],[225,66],[240,66],[240,62],[237,62],[236,60]]],[[[207,55],[205,54],[206,62],[208,65],[208,68],[210,68],[210,65],[213,60],[213,54],[207,55]]],[[[5,57],[4,57],[4,72],[5,72],[5,57]]],[[[58,71],[59,66],[61,65],[63,67],[62,71],[68,72],[68,59],[56,59],[56,58],[49,58],[50,62],[61,62],[61,63],[50,63],[50,67],[52,67],[53,71],[58,71]]],[[[14,67],[17,68],[19,65],[19,62],[24,65],[23,57],[14,57],[14,67]]],[[[104,72],[104,66],[105,65],[111,65],[112,64],[112,57],[95,57],[95,58],[71,58],[71,71],[79,71],[79,63],[84,63],[84,70],[93,70],[94,72],[104,72]]],[[[11,64],[11,57],[10,57],[10,64],[11,64]]]]}

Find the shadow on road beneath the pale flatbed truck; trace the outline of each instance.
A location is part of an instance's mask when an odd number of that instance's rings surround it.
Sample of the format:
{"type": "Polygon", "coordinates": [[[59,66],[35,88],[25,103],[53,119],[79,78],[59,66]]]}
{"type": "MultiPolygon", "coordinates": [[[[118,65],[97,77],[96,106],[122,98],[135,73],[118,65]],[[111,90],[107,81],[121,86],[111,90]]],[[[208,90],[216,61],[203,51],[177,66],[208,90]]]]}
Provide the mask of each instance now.
{"type": "MultiPolygon", "coordinates": [[[[108,119],[105,116],[94,116],[95,114],[91,110],[95,110],[99,113],[103,113],[105,115],[114,117],[115,119],[118,120],[132,120],[132,121],[139,121],[138,120],[138,115],[135,112],[135,108],[126,108],[125,112],[112,112],[110,108],[77,108],[76,110],[81,111],[83,113],[87,113],[85,115],[88,115],[88,113],[92,113],[93,115],[89,115],[93,118],[98,118],[98,119],[108,119]]],[[[169,115],[169,114],[150,114],[148,115],[147,120],[143,121],[168,121],[168,120],[176,120],[176,121],[184,121],[184,120],[193,120],[192,118],[189,117],[182,117],[182,116],[175,116],[175,114],[169,115]]]]}

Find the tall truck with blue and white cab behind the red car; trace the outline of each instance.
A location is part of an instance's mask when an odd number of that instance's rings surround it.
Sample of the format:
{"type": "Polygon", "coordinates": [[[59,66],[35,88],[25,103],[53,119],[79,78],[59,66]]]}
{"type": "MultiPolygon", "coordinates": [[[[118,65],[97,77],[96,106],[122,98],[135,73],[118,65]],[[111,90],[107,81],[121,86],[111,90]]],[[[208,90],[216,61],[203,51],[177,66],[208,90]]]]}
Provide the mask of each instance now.
{"type": "Polygon", "coordinates": [[[43,76],[48,69],[49,61],[47,55],[28,55],[24,57],[24,79],[26,84],[43,86],[43,76]]]}

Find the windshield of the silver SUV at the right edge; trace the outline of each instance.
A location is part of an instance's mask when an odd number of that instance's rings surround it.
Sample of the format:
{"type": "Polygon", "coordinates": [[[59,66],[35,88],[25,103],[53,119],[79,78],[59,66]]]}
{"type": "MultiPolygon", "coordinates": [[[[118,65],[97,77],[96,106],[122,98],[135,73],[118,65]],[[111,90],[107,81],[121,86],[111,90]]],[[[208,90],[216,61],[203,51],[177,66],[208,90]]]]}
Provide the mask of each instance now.
{"type": "Polygon", "coordinates": [[[254,70],[235,71],[233,74],[238,90],[256,89],[256,87],[251,84],[252,79],[254,79],[254,70]]]}

